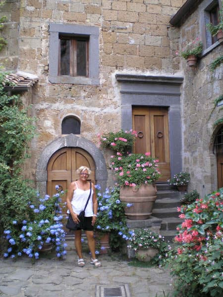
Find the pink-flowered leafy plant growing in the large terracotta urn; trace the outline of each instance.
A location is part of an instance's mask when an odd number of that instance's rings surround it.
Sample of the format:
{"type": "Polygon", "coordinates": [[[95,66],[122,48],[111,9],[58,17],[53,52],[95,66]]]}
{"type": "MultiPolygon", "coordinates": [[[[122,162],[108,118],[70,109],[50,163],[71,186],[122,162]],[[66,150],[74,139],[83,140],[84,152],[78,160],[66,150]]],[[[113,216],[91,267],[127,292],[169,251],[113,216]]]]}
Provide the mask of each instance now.
{"type": "Polygon", "coordinates": [[[130,153],[123,156],[120,152],[111,155],[110,169],[115,174],[119,186],[139,187],[142,184],[152,184],[160,177],[158,159],[145,154],[130,153]]]}

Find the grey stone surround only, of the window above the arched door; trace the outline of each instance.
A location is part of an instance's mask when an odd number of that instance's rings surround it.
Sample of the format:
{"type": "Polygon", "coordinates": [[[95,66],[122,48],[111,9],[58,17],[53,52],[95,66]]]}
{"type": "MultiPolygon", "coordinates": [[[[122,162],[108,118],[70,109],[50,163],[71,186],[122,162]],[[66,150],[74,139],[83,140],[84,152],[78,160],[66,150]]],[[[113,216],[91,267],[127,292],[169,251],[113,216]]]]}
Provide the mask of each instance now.
{"type": "Polygon", "coordinates": [[[49,81],[58,84],[99,85],[99,27],[51,23],[49,40],[49,81]],[[89,76],[58,75],[59,33],[89,37],[89,76]]]}

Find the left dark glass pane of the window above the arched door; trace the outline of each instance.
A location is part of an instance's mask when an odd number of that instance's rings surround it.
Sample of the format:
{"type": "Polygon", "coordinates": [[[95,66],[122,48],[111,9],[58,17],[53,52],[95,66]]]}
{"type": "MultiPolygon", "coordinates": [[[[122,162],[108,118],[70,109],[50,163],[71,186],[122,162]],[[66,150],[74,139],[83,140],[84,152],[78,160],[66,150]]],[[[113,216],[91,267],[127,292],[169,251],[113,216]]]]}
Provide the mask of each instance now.
{"type": "Polygon", "coordinates": [[[60,75],[70,75],[70,41],[60,39],[60,75]]]}

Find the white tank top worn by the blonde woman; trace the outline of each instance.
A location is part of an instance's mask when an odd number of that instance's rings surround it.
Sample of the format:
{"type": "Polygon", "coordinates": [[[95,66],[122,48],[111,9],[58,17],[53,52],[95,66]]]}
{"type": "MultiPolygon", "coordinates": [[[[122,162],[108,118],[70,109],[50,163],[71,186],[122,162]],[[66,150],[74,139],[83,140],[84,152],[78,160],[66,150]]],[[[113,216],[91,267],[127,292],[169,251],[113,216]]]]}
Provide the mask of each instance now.
{"type": "MultiPolygon", "coordinates": [[[[75,213],[79,214],[82,210],[84,210],[85,204],[87,202],[88,196],[90,194],[89,190],[81,190],[78,188],[77,183],[75,182],[76,189],[73,191],[73,198],[71,200],[72,209],[75,213]]],[[[88,201],[87,207],[85,209],[85,216],[93,216],[93,197],[94,191],[91,189],[91,197],[88,201]]]]}

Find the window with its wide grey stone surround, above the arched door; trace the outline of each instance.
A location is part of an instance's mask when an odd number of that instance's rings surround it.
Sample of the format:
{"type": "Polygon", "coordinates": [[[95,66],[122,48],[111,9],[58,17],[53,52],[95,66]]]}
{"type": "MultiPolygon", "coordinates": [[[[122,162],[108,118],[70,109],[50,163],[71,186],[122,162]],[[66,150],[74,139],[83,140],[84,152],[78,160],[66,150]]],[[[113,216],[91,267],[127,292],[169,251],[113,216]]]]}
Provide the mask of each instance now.
{"type": "Polygon", "coordinates": [[[99,27],[50,24],[49,80],[99,84],[99,27]]]}

